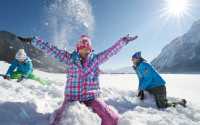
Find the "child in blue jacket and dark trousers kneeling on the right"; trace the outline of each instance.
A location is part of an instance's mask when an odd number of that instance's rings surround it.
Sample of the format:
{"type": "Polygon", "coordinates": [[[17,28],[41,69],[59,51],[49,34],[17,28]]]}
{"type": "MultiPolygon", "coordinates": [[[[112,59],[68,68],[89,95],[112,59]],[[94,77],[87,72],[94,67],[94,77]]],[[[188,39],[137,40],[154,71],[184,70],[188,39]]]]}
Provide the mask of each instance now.
{"type": "Polygon", "coordinates": [[[144,91],[149,92],[155,97],[156,105],[158,108],[167,108],[170,106],[175,107],[177,104],[186,106],[186,100],[180,102],[168,103],[165,80],[159,73],[142,58],[141,52],[136,52],[132,56],[133,68],[139,79],[139,93],[138,97],[144,99],[144,91]]]}

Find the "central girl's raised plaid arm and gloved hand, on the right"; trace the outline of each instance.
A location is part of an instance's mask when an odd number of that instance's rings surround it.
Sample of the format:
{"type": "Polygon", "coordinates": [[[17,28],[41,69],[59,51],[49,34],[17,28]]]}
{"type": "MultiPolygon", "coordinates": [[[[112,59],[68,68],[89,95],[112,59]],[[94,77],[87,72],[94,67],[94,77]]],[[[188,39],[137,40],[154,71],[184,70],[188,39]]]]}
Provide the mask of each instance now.
{"type": "Polygon", "coordinates": [[[98,64],[106,62],[110,57],[116,55],[124,46],[126,46],[130,41],[134,41],[138,36],[130,37],[129,35],[118,40],[113,46],[106,49],[105,51],[97,55],[98,64]]]}

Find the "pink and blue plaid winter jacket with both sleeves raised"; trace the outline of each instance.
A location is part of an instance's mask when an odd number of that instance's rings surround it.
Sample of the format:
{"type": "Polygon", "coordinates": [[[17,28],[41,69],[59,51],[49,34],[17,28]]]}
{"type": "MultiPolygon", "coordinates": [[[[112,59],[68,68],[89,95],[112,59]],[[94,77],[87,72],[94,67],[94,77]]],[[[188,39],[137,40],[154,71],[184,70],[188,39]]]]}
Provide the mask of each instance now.
{"type": "Polygon", "coordinates": [[[112,47],[99,53],[91,53],[85,63],[81,64],[81,58],[77,51],[69,53],[59,50],[38,37],[34,37],[32,45],[49,56],[53,56],[67,65],[67,83],[65,94],[69,101],[87,101],[95,99],[100,94],[99,65],[117,54],[128,42],[120,39],[112,47]]]}

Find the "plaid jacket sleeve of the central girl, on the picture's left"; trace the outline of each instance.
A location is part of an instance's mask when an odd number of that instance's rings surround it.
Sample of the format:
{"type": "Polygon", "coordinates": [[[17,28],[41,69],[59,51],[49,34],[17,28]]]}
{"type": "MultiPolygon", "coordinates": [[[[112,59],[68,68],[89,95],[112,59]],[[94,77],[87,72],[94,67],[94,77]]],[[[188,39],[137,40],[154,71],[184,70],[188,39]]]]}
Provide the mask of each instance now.
{"type": "Polygon", "coordinates": [[[34,37],[32,40],[32,45],[43,52],[47,53],[49,56],[56,58],[58,61],[65,64],[69,64],[71,54],[65,50],[59,50],[56,46],[49,44],[48,42],[34,37]]]}

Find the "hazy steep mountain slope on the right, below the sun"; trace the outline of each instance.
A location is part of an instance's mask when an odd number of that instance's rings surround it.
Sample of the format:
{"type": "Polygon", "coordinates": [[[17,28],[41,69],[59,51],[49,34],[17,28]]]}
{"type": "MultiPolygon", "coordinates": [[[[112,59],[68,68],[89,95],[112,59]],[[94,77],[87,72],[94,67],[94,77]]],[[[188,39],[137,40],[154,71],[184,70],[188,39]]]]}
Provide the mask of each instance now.
{"type": "Polygon", "coordinates": [[[162,49],[152,64],[161,72],[200,72],[200,20],[162,49]]]}

